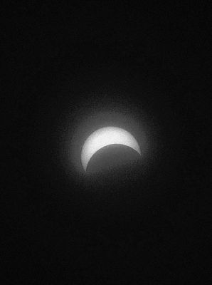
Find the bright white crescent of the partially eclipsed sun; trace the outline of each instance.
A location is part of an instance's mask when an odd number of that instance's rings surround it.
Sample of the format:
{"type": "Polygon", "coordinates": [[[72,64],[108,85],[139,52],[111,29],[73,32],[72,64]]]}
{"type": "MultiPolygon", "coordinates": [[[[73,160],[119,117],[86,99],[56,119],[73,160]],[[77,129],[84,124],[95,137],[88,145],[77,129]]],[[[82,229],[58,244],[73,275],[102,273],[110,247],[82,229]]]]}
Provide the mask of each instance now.
{"type": "Polygon", "coordinates": [[[92,155],[100,150],[100,148],[105,147],[106,145],[127,145],[136,150],[139,155],[141,155],[141,150],[137,140],[131,135],[127,130],[117,127],[105,127],[95,130],[83,145],[83,150],[81,152],[81,162],[84,170],[88,166],[92,155]]]}

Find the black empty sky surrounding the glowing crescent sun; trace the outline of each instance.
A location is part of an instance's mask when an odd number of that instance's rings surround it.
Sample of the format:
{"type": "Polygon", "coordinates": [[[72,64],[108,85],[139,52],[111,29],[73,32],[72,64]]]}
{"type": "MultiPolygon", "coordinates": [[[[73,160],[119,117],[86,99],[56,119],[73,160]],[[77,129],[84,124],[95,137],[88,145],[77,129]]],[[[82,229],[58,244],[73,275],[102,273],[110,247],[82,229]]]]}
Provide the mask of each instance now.
{"type": "Polygon", "coordinates": [[[7,1],[1,19],[1,284],[211,284],[207,2],[7,1]],[[145,114],[151,159],[68,170],[68,136],[111,109],[145,114]]]}

